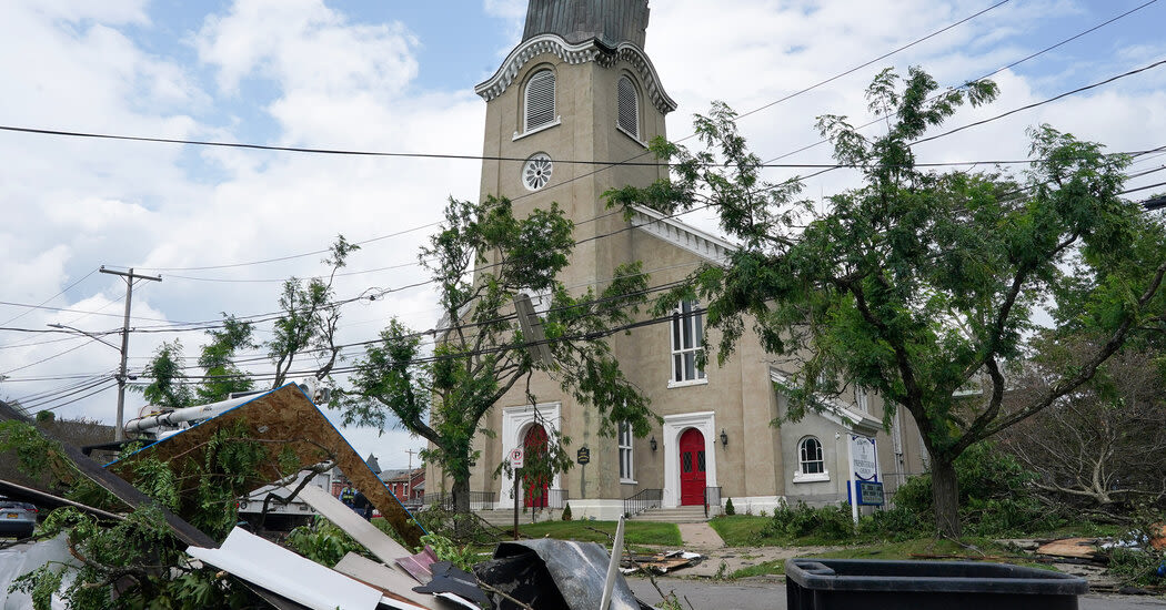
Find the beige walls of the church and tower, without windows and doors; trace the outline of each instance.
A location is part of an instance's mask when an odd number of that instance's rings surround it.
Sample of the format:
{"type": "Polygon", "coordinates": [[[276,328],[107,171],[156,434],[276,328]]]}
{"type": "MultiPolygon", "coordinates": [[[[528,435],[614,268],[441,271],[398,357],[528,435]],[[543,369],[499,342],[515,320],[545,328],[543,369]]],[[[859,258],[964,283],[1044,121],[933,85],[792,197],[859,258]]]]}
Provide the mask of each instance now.
{"type": "MultiPolygon", "coordinates": [[[[566,211],[576,222],[580,244],[560,279],[573,293],[588,288],[603,290],[621,263],[641,261],[651,274],[648,284],[656,286],[684,278],[700,263],[723,262],[731,253],[732,244],[675,219],[641,210],[626,220],[619,211],[605,207],[604,191],[628,184],[647,186],[666,175],[665,168],[569,163],[654,158],[645,143],[666,135],[665,114],[675,104],[663,92],[639,45],[614,41],[612,47],[597,40],[571,43],[555,33],[540,33],[520,43],[477,91],[487,104],[483,154],[507,159],[483,163],[482,196],[508,197],[518,215],[549,207],[553,201],[566,211]],[[555,119],[527,130],[525,86],[532,76],[548,70],[555,77],[555,119]],[[621,78],[635,87],[638,137],[617,127],[617,87],[621,78]],[[553,171],[545,186],[531,190],[522,179],[524,159],[538,154],[550,157],[553,171]]],[[[647,314],[641,317],[646,319],[647,314]]],[[[913,421],[900,414],[893,421],[898,426],[894,433],[884,432],[877,396],[864,398],[851,392],[854,399],[838,400],[833,412],[777,427],[771,421],[782,414],[785,399],[775,390],[775,382],[785,374],[756,338],[746,334],[724,366],[709,364],[703,380],[676,382],[672,332],[670,324],[655,324],[610,339],[625,375],[663,418],[663,424],[653,426],[647,437],[632,440],[630,476],[620,477],[619,440],[599,434],[595,409],[576,404],[557,384],[536,376],[531,389],[539,398],[538,405],[528,404],[525,389],[515,389],[483,421],[496,435],[479,435],[476,441],[482,458],[473,468],[471,489],[492,491],[499,508],[510,506],[512,480],[505,475],[496,480],[492,473],[511,448],[522,445],[536,424],[569,437],[571,455],[582,447],[590,449],[585,467],[576,464],[550,483],[552,489],[566,490],[576,518],[617,518],[624,512],[624,498],[649,489],[662,490],[665,506],[681,504],[682,488],[694,484],[691,475],[684,474],[682,439],[703,449],[690,451],[687,459],[700,454],[704,485],[719,488],[722,502],[733,498],[738,512],[772,510],[782,498],[815,504],[845,501],[847,441],[851,432],[877,437],[879,478],[888,487],[901,481],[902,475],[922,469],[922,449],[913,421]],[[803,467],[801,445],[809,437],[819,441],[821,460],[810,461],[820,466],[803,467]],[[820,471],[807,474],[801,471],[803,468],[820,471]],[[682,483],[682,476],[689,482],[682,483]]],[[[709,339],[716,342],[715,335],[709,339]]],[[[688,469],[695,466],[689,462],[688,469]]],[[[436,492],[441,473],[430,468],[429,491],[436,492]]]]}

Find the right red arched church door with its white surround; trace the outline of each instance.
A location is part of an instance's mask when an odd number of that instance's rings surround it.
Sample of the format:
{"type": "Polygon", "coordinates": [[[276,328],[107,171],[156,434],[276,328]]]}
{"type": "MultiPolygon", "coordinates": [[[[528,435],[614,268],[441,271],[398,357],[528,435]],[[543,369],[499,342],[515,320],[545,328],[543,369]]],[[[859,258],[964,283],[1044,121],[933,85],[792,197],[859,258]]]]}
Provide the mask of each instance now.
{"type": "Polygon", "coordinates": [[[717,485],[716,419],[712,411],[663,418],[663,506],[704,504],[704,488],[717,485]]]}

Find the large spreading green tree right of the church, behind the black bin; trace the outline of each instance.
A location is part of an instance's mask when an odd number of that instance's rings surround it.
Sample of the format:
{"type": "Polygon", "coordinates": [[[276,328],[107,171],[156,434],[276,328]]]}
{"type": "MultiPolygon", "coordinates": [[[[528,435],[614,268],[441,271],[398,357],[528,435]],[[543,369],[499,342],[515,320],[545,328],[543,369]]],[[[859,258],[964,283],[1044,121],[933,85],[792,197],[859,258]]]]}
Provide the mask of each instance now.
{"type": "Polygon", "coordinates": [[[609,200],[716,211],[740,247],[725,267],[695,271],[686,290],[708,303],[708,324],[722,331],[718,359],[752,324],[767,350],[799,361],[781,389],[787,417],[819,407],[815,396],[841,383],[880,393],[885,423],[897,407],[911,412],[930,454],[936,530],[956,537],[955,459],[1080,388],[1138,328],[1161,329],[1166,232],[1119,197],[1128,156],[1048,126],[1030,132],[1033,158],[1021,177],[919,168],[913,144],[929,128],[997,93],[990,81],[937,88],[919,69],[901,86],[881,72],[866,97],[872,112],[887,113],[883,136],[843,116],[819,119],[838,164],[864,178],[822,208],[796,200],[796,179],[760,178],[761,162],[724,105],[696,120],[709,150],[658,141],[673,175],[609,200]],[[1042,312],[1051,322],[1039,321],[1042,312]],[[1034,333],[1055,339],[1082,325],[1101,339],[1049,369],[1027,399],[1005,403],[1009,363],[1034,333]]]}

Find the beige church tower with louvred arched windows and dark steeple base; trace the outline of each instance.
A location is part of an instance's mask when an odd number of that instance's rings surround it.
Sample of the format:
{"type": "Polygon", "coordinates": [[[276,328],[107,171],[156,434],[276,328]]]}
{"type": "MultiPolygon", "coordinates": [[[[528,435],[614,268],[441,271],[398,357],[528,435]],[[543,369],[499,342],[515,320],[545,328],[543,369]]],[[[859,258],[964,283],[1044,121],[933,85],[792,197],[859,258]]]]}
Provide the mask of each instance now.
{"type": "Polygon", "coordinates": [[[582,242],[561,278],[569,285],[630,261],[628,237],[598,237],[626,227],[603,192],[667,171],[642,164],[676,108],[644,52],[647,23],[647,0],[531,0],[522,41],[475,87],[486,100],[484,156],[514,159],[483,163],[482,197],[508,197],[520,215],[566,211],[582,242]]]}

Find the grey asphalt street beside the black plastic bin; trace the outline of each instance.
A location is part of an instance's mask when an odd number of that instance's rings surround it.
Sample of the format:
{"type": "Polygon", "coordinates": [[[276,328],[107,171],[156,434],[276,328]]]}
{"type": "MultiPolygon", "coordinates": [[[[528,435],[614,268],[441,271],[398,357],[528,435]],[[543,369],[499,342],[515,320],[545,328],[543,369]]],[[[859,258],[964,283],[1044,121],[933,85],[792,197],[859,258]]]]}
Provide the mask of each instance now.
{"type": "MultiPolygon", "coordinates": [[[[778,582],[718,582],[711,580],[656,579],[665,593],[675,591],[684,608],[696,610],[785,610],[786,586],[778,582]],[[687,600],[687,602],[686,602],[687,600]]],[[[649,604],[660,602],[660,594],[647,579],[630,577],[627,584],[637,597],[649,604]]],[[[1166,609],[1160,597],[1083,595],[1081,610],[1166,609]]]]}

